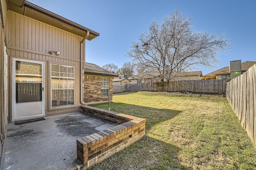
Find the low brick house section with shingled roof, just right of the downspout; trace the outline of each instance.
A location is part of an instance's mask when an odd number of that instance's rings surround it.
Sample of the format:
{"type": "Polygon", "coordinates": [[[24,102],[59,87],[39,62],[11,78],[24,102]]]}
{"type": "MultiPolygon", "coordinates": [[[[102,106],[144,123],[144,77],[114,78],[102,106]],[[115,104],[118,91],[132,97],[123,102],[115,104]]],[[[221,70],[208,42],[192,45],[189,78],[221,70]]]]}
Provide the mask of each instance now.
{"type": "Polygon", "coordinates": [[[112,101],[112,79],[118,75],[96,64],[85,63],[83,98],[87,104],[108,102],[108,90],[112,101]]]}

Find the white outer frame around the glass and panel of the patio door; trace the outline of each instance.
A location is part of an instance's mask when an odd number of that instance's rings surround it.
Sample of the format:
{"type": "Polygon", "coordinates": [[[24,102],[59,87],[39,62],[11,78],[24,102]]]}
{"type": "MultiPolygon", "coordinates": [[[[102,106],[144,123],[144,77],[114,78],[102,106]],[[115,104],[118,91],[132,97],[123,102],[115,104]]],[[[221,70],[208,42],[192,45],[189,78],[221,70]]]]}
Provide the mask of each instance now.
{"type": "Polygon", "coordinates": [[[26,60],[26,59],[17,59],[17,58],[12,58],[12,121],[17,121],[17,120],[22,120],[22,119],[30,119],[30,118],[36,118],[36,117],[42,117],[45,116],[45,88],[44,88],[44,83],[45,83],[45,74],[44,74],[44,66],[45,63],[41,61],[32,61],[32,60],[26,60]],[[16,114],[16,61],[24,61],[27,63],[37,63],[37,64],[42,64],[42,114],[40,115],[32,115],[32,116],[24,116],[24,117],[19,117],[17,118],[16,114]]]}

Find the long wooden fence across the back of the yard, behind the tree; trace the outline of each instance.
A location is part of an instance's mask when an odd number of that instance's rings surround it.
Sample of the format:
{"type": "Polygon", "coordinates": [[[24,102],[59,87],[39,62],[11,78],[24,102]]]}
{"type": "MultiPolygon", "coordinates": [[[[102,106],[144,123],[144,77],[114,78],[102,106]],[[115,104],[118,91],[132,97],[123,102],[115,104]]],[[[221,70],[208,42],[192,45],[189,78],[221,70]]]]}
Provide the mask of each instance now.
{"type": "MultiPolygon", "coordinates": [[[[199,92],[199,93],[226,93],[226,84],[229,80],[177,80],[169,82],[154,82],[140,84],[126,84],[127,92],[199,92]]],[[[114,87],[114,86],[113,86],[114,87]]],[[[114,90],[113,93],[118,93],[114,90]]]]}

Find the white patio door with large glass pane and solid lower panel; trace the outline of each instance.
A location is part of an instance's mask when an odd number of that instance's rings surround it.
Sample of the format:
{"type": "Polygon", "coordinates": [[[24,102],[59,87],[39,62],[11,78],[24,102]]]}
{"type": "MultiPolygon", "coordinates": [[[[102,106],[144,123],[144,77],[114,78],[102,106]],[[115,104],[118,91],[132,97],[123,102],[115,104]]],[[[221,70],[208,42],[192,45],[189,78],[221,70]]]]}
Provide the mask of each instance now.
{"type": "Polygon", "coordinates": [[[44,116],[44,63],[12,60],[12,120],[44,116]]]}

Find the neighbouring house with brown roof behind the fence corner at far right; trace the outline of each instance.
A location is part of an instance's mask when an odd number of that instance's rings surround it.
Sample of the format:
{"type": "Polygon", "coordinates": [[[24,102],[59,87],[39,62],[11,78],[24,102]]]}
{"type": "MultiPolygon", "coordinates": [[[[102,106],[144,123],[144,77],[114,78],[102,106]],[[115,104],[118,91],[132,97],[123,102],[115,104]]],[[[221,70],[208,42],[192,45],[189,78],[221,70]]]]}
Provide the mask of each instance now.
{"type": "MultiPolygon", "coordinates": [[[[246,61],[241,64],[242,67],[242,74],[246,72],[251,66],[256,64],[256,61],[246,61]]],[[[230,79],[230,67],[226,66],[223,68],[220,68],[216,71],[210,72],[208,74],[205,74],[202,76],[204,80],[210,79],[210,80],[219,80],[219,79],[230,79]]]]}

